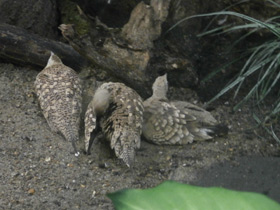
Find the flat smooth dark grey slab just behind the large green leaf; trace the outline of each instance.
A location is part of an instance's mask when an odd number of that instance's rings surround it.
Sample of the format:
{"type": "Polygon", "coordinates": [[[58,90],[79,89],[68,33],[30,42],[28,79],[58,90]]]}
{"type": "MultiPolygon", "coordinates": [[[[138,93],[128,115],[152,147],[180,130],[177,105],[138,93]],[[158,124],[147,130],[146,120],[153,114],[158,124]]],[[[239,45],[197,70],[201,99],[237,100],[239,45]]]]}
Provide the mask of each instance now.
{"type": "Polygon", "coordinates": [[[210,168],[196,170],[177,168],[173,179],[193,185],[220,186],[232,190],[263,193],[280,201],[280,162],[278,157],[238,157],[235,161],[213,164],[210,168]],[[192,173],[195,174],[195,173],[192,173]]]}

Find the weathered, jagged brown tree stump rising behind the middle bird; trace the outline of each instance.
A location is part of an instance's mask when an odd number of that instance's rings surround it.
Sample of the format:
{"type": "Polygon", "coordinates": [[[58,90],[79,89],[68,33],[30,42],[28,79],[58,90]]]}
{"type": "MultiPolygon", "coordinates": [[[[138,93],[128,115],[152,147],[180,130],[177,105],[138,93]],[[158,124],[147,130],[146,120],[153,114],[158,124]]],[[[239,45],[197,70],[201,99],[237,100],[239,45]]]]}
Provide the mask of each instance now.
{"type": "MultiPolygon", "coordinates": [[[[59,28],[70,45],[92,64],[119,78],[142,97],[147,97],[154,80],[147,70],[152,42],[161,34],[161,24],[167,17],[169,2],[152,0],[151,6],[139,3],[122,32],[111,33],[102,46],[92,41],[96,37],[78,36],[72,25],[62,24],[59,28]]],[[[98,32],[93,34],[104,39],[98,32]]]]}

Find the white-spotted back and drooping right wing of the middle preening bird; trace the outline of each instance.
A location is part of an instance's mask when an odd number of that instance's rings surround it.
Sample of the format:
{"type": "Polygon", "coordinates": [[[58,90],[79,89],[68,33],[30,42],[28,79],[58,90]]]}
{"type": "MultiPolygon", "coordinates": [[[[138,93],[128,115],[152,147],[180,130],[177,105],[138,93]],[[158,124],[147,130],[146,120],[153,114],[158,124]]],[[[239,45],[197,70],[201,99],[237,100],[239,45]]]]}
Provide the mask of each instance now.
{"type": "Polygon", "coordinates": [[[106,83],[111,103],[101,119],[101,127],[110,140],[111,148],[118,158],[130,166],[135,149],[140,147],[143,123],[143,102],[141,97],[122,83],[106,83]]]}

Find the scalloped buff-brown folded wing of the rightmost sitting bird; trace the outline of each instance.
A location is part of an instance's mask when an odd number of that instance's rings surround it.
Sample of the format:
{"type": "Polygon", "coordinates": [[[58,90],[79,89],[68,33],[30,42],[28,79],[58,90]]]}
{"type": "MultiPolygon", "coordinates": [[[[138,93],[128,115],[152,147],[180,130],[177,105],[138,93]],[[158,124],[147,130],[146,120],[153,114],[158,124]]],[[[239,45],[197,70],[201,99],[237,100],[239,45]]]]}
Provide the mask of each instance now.
{"type": "Polygon", "coordinates": [[[195,120],[168,102],[154,100],[145,104],[143,134],[156,144],[191,143],[194,136],[189,128],[195,120]]]}

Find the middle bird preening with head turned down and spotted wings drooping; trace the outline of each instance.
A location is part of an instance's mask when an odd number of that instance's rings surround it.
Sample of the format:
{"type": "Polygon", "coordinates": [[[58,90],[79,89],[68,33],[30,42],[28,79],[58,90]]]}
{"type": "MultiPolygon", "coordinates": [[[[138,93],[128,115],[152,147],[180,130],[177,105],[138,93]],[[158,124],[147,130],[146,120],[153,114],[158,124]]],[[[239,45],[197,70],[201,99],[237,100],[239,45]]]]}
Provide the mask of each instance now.
{"type": "Polygon", "coordinates": [[[135,149],[140,147],[143,112],[143,101],[134,90],[123,83],[102,84],[96,90],[85,115],[87,153],[97,132],[101,130],[116,156],[130,167],[135,149]]]}

